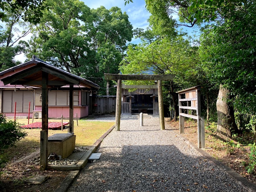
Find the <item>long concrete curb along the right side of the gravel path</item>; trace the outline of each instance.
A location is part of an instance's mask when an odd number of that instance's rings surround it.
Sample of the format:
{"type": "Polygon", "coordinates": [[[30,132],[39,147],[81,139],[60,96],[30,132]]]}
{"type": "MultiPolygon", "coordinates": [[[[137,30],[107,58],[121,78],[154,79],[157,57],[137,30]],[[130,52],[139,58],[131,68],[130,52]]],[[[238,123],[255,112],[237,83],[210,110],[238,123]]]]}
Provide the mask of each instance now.
{"type": "Polygon", "coordinates": [[[202,156],[204,156],[205,158],[207,158],[209,161],[211,161],[212,163],[216,164],[218,167],[220,167],[220,169],[222,169],[223,171],[225,171],[226,173],[228,173],[228,175],[230,175],[230,177],[232,177],[234,180],[236,180],[236,182],[240,185],[242,185],[246,190],[250,191],[250,192],[256,192],[256,185],[251,183],[250,181],[248,181],[247,179],[245,179],[244,177],[242,177],[240,174],[238,174],[237,172],[235,172],[233,169],[229,168],[227,165],[221,163],[220,161],[218,161],[217,159],[215,159],[214,157],[212,157],[209,153],[207,153],[206,151],[204,151],[203,149],[197,148],[197,145],[191,141],[189,141],[186,137],[184,137],[182,134],[180,133],[176,133],[182,140],[184,140],[188,145],[190,145],[190,147],[194,148],[197,152],[199,152],[202,156]]]}

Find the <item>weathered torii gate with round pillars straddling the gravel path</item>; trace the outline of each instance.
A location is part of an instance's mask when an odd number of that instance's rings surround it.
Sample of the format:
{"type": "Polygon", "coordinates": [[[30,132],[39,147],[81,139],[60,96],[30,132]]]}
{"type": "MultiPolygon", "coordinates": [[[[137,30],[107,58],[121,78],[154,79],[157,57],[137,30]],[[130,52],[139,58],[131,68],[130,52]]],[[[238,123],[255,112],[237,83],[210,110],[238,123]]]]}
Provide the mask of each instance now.
{"type": "Polygon", "coordinates": [[[170,81],[174,75],[117,75],[117,74],[104,74],[105,79],[117,80],[116,90],[116,131],[120,131],[120,117],[121,117],[121,97],[122,97],[122,80],[133,81],[157,81],[158,86],[158,106],[159,106],[159,118],[160,129],[164,130],[164,101],[163,101],[163,89],[162,80],[170,81]]]}

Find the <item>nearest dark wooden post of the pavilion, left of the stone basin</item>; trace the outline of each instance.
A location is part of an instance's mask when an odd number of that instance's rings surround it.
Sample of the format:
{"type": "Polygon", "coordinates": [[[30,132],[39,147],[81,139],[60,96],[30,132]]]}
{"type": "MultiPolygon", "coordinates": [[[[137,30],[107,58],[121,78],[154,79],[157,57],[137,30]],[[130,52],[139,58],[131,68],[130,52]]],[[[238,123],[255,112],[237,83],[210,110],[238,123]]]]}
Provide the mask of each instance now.
{"type": "Polygon", "coordinates": [[[42,131],[40,132],[40,170],[44,171],[48,164],[48,73],[42,71],[42,131]]]}

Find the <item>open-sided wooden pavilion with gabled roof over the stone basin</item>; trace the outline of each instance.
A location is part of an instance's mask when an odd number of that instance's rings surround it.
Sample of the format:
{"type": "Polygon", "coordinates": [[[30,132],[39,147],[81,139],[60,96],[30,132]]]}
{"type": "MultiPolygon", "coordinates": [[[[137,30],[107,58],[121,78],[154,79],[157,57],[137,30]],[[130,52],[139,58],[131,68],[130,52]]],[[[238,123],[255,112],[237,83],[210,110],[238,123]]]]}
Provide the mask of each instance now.
{"type": "Polygon", "coordinates": [[[48,163],[48,89],[69,85],[69,132],[74,132],[73,127],[73,97],[74,85],[82,85],[92,89],[98,89],[99,85],[84,78],[68,73],[60,68],[49,65],[45,62],[38,62],[36,65],[23,68],[16,66],[15,72],[10,76],[2,78],[4,85],[19,84],[40,87],[42,89],[42,131],[40,132],[40,170],[45,170],[48,163]]]}

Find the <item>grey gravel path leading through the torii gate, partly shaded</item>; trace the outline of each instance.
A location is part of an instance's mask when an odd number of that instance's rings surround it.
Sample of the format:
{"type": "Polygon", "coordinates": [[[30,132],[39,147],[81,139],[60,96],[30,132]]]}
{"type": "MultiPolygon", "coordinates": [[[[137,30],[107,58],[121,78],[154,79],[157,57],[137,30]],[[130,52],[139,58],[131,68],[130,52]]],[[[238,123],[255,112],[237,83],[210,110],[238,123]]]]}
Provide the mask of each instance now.
{"type": "Polygon", "coordinates": [[[101,143],[100,159],[88,163],[69,188],[73,191],[246,191],[159,119],[122,119],[101,143]]]}

